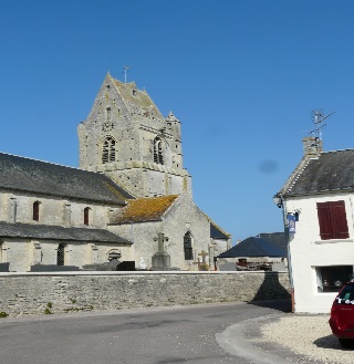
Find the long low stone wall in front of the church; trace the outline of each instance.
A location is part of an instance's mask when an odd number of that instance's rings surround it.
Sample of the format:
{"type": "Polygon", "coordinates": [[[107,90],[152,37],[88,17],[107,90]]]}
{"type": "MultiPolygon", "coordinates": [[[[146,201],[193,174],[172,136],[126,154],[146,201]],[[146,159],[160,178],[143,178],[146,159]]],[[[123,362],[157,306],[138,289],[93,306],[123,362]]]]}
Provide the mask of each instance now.
{"type": "Polygon", "coordinates": [[[288,272],[0,273],[0,316],[289,298],[288,272]]]}

